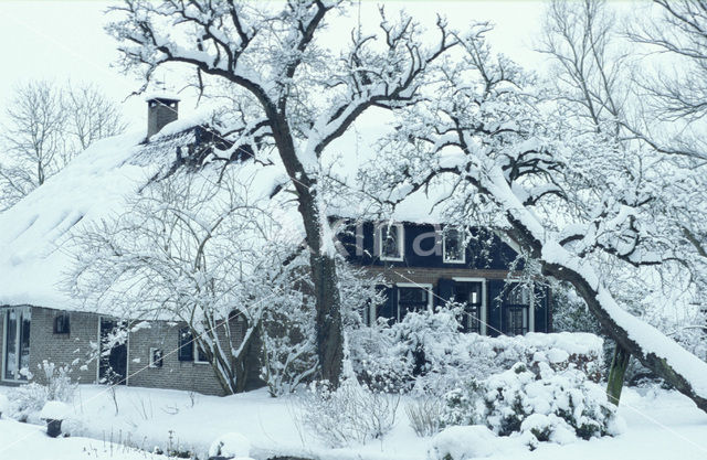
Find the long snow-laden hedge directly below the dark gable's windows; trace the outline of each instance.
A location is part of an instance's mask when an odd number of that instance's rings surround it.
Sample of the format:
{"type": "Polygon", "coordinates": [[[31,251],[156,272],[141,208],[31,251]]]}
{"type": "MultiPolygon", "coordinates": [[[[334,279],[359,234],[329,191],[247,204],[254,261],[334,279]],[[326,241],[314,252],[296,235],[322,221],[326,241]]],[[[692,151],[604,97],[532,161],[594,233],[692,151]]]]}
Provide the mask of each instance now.
{"type": "Polygon", "coordinates": [[[350,356],[360,381],[401,393],[437,394],[541,360],[553,370],[577,368],[601,378],[602,340],[588,333],[528,333],[489,338],[458,332],[458,309],[411,312],[392,325],[349,333],[350,356]],[[536,354],[538,354],[536,360],[536,354]]]}

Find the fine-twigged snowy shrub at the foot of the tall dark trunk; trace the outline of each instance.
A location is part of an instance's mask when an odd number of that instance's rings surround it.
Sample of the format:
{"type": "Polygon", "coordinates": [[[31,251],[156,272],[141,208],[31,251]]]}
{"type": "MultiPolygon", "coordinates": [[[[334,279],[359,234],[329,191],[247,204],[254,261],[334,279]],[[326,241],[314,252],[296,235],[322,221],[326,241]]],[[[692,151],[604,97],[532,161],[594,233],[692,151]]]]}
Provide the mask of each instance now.
{"type": "Polygon", "coordinates": [[[337,389],[312,384],[297,398],[297,422],[330,447],[380,439],[395,426],[399,395],[371,391],[356,379],[345,379],[337,389]]]}

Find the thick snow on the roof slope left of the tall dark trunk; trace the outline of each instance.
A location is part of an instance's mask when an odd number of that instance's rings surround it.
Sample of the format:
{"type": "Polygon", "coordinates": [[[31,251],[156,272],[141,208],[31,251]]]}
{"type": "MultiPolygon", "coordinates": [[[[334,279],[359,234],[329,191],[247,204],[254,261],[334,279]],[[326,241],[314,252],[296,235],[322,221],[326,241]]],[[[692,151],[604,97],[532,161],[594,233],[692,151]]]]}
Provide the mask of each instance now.
{"type": "MultiPolygon", "coordinates": [[[[194,130],[189,129],[194,127],[193,120],[191,125],[181,120],[173,125],[180,130],[176,132],[168,125],[165,133],[147,143],[144,131],[94,143],[0,214],[0,306],[81,309],[62,289],[72,264],[70,231],[78,223],[99,223],[124,213],[126,199],[169,170],[177,148],[194,141],[194,130]]],[[[277,165],[250,164],[243,174],[262,183],[263,193],[271,193],[283,181],[277,165]]],[[[295,220],[289,221],[287,224],[294,225],[295,220]]]]}

